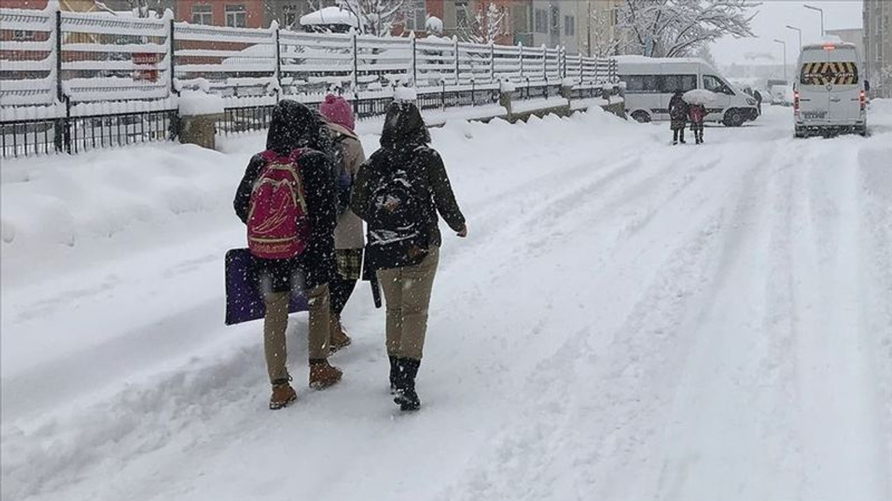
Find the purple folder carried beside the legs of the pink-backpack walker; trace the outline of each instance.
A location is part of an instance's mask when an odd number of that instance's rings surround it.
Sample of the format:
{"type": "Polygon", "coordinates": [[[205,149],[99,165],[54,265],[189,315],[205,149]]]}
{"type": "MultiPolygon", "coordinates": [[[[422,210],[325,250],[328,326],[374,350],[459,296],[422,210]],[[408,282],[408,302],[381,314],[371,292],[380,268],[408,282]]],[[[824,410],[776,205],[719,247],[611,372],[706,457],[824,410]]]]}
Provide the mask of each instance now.
{"type": "MultiPolygon", "coordinates": [[[[307,297],[302,291],[291,293],[288,311],[307,311],[307,297]]],[[[252,273],[251,253],[233,249],[226,253],[226,324],[241,324],[263,318],[266,307],[263,295],[252,273]]]]}

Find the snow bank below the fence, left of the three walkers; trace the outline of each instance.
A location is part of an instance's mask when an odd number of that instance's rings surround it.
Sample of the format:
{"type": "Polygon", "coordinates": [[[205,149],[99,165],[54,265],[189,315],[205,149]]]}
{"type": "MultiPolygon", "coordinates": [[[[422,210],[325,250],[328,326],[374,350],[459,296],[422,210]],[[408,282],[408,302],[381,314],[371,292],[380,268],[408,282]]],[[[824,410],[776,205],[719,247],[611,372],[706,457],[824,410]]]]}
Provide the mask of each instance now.
{"type": "Polygon", "coordinates": [[[231,220],[247,155],[235,159],[197,146],[153,144],[77,157],[4,160],[4,286],[29,275],[24,267],[64,249],[75,250],[79,259],[89,259],[97,249],[97,256],[107,254],[119,244],[117,236],[133,228],[141,228],[137,240],[157,244],[194,233],[189,219],[195,215],[201,215],[202,226],[209,214],[231,220]]]}

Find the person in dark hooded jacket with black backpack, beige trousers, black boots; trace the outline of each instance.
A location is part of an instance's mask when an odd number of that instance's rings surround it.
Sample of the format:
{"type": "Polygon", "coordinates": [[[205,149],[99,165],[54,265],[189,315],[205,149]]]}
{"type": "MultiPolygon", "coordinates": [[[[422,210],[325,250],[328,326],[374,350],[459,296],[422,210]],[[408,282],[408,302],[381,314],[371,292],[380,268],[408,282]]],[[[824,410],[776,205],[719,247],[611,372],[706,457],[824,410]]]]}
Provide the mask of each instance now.
{"type": "Polygon", "coordinates": [[[437,213],[459,237],[467,236],[446,168],[430,141],[415,103],[391,103],[381,148],[359,168],[351,201],[368,223],[366,267],[384,289],[391,390],[404,411],[421,406],[415,380],[440,260],[437,213]]]}

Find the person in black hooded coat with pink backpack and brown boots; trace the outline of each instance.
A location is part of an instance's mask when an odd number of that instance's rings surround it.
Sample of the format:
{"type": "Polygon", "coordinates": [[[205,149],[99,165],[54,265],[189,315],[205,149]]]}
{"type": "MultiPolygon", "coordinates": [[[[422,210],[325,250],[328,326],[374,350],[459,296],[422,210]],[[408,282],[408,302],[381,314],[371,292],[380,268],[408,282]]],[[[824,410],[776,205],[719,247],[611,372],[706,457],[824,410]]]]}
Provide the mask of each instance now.
{"type": "Polygon", "coordinates": [[[269,408],[297,399],[289,384],[285,329],[291,291],[310,302],[310,387],[341,380],[328,364],[328,283],[335,276],[335,177],[325,125],[315,111],[283,100],[272,111],[267,149],[251,159],[235,193],[235,213],[248,226],[252,274],[264,292],[263,343],[272,397],[269,408]]]}

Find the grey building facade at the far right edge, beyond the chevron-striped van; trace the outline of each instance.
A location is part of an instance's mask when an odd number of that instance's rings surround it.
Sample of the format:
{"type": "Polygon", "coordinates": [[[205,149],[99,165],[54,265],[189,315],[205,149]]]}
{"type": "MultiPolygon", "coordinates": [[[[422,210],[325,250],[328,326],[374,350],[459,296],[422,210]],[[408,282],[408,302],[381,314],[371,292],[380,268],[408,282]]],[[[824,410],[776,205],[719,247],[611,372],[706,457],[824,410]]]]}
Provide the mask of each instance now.
{"type": "Polygon", "coordinates": [[[863,0],[863,59],[871,95],[892,97],[892,2],[863,0]]]}

